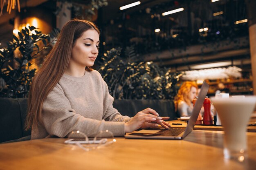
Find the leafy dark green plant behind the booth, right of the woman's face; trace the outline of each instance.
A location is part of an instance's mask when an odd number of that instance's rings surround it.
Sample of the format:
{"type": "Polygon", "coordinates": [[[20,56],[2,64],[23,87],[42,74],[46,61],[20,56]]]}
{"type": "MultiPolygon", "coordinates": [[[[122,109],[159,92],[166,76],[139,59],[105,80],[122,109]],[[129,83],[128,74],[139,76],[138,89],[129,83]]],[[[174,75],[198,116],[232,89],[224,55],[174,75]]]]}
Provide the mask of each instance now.
{"type": "Polygon", "coordinates": [[[126,57],[120,53],[121,48],[107,51],[98,68],[110,95],[115,99],[174,99],[181,73],[171,73],[153,62],[136,61],[139,57],[133,48],[126,49],[126,57]]]}

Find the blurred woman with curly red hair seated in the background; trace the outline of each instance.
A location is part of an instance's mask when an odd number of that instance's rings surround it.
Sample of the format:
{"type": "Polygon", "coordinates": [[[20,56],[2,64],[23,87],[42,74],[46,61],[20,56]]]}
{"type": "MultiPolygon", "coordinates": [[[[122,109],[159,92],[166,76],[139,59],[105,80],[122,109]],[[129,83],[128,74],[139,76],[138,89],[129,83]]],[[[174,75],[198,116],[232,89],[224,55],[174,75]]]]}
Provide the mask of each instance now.
{"type": "Polygon", "coordinates": [[[175,110],[180,116],[190,116],[193,110],[192,100],[198,94],[198,86],[194,82],[184,82],[175,97],[175,110]]]}

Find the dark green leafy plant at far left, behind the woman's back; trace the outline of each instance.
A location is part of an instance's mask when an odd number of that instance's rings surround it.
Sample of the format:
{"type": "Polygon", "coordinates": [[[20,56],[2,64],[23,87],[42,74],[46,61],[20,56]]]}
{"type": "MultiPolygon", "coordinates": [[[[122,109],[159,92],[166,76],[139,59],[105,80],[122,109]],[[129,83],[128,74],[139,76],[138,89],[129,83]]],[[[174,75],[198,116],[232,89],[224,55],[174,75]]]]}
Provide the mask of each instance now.
{"type": "MultiPolygon", "coordinates": [[[[32,59],[49,49],[58,35],[59,30],[43,34],[34,26],[26,27],[18,32],[19,38],[13,35],[13,42],[0,50],[0,79],[6,86],[0,86],[0,97],[27,97],[29,86],[36,73],[32,59]]],[[[45,56],[45,54],[43,55],[45,56]]]]}

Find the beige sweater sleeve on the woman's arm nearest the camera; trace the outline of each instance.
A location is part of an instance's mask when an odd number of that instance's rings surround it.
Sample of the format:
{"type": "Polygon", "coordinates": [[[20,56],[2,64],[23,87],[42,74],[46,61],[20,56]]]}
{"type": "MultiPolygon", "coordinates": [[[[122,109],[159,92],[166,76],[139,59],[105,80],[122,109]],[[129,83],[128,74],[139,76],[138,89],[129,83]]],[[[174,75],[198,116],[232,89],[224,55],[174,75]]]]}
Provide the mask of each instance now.
{"type": "Polygon", "coordinates": [[[110,130],[115,136],[125,134],[124,121],[94,120],[76,114],[59,84],[43,103],[42,120],[45,130],[51,136],[66,137],[74,130],[79,130],[88,137],[97,135],[101,130],[110,130]]]}

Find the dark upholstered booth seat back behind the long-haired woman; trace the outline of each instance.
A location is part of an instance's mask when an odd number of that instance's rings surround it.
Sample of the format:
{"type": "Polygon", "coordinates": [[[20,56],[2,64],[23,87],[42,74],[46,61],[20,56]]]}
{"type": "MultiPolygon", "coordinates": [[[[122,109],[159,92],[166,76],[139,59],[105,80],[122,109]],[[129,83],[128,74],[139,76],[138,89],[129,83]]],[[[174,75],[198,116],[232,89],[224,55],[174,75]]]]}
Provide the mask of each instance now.
{"type": "MultiPolygon", "coordinates": [[[[171,100],[115,100],[114,108],[122,115],[133,117],[137,112],[145,108],[153,108],[160,116],[168,116],[175,119],[177,114],[171,100]]],[[[0,97],[0,142],[17,141],[22,138],[29,140],[31,130],[25,129],[27,116],[27,98],[1,98],[0,97]]]]}

